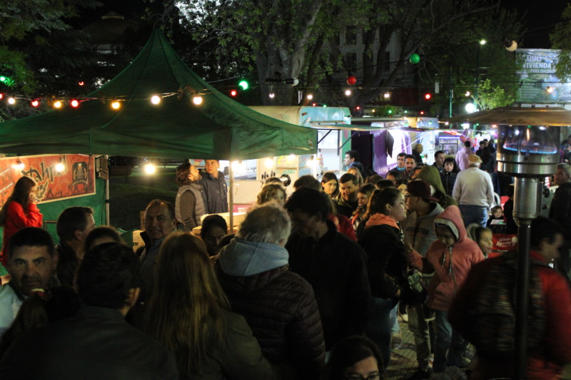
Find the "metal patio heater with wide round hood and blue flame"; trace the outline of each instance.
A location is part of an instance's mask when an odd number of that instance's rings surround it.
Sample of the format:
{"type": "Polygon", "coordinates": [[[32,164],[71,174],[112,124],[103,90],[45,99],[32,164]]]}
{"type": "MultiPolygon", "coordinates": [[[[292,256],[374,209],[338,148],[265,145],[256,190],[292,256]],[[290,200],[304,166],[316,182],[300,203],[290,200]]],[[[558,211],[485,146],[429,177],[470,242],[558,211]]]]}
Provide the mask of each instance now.
{"type": "Polygon", "coordinates": [[[449,118],[449,123],[497,125],[497,170],[515,177],[514,219],[519,226],[515,321],[515,379],[525,379],[530,228],[540,214],[543,181],[557,170],[560,126],[571,125],[564,108],[495,108],[449,118]]]}

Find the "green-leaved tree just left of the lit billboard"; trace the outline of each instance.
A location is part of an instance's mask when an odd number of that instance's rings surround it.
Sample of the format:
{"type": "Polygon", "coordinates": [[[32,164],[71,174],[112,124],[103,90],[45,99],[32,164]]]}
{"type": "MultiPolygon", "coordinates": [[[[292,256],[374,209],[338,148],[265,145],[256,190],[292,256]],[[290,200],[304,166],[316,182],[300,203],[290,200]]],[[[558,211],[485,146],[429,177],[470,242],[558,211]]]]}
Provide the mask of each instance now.
{"type": "Polygon", "coordinates": [[[438,82],[442,94],[435,97],[437,109],[433,113],[448,115],[450,86],[453,103],[458,106],[473,103],[475,94],[482,109],[509,106],[515,101],[519,63],[515,53],[505,49],[505,43],[520,41],[520,19],[516,12],[499,8],[473,14],[419,48],[425,58],[415,66],[419,84],[425,91],[434,92],[438,82]],[[485,45],[480,45],[482,39],[487,41],[485,45]],[[467,92],[470,97],[465,96],[467,92]]]}

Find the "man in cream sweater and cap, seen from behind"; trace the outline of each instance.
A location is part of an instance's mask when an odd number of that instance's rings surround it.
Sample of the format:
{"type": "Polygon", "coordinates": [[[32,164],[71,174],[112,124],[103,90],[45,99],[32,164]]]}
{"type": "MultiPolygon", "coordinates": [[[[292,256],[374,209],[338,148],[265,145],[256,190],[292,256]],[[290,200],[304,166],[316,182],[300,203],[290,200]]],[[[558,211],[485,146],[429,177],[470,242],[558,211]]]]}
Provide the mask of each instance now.
{"type": "Polygon", "coordinates": [[[468,156],[468,168],[456,177],[452,197],[460,205],[465,227],[476,223],[485,227],[487,212],[494,205],[494,185],[490,175],[480,170],[482,159],[478,155],[468,156]]]}

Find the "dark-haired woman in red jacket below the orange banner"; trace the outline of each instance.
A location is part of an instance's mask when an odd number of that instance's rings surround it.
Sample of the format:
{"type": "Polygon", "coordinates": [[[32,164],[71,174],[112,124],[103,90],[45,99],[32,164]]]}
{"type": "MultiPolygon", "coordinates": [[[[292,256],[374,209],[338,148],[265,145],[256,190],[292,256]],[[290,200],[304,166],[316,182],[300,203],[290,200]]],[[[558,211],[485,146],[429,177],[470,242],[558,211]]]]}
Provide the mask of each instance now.
{"type": "Polygon", "coordinates": [[[2,239],[1,262],[8,261],[8,243],[16,232],[24,227],[41,227],[44,215],[36,206],[38,186],[29,177],[22,177],[16,182],[8,200],[0,210],[0,226],[4,227],[2,239]]]}

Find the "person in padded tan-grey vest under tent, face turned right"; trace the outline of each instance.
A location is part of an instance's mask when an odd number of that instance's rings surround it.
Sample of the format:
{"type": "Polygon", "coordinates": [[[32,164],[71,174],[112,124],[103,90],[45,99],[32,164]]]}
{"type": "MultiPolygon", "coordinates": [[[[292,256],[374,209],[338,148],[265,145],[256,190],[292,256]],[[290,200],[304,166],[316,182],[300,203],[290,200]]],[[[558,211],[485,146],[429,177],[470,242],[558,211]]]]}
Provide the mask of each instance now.
{"type": "Polygon", "coordinates": [[[174,206],[176,220],[183,223],[190,231],[201,225],[201,216],[206,214],[199,180],[201,174],[194,165],[183,163],[176,168],[176,183],[178,183],[174,206]]]}

